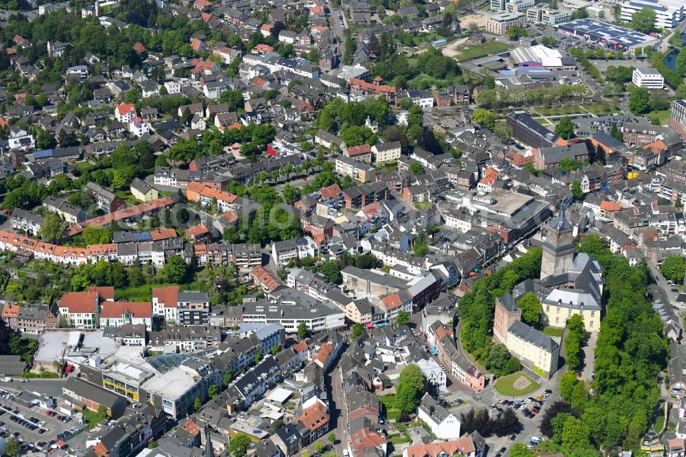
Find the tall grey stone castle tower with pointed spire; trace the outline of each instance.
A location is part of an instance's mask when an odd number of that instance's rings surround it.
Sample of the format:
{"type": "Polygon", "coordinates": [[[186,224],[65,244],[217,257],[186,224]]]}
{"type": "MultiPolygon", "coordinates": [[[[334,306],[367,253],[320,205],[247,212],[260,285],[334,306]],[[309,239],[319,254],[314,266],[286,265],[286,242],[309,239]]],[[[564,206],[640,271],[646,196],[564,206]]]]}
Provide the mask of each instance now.
{"type": "Polygon", "coordinates": [[[573,229],[565,217],[564,205],[558,215],[543,226],[541,279],[569,271],[574,261],[573,229]]]}

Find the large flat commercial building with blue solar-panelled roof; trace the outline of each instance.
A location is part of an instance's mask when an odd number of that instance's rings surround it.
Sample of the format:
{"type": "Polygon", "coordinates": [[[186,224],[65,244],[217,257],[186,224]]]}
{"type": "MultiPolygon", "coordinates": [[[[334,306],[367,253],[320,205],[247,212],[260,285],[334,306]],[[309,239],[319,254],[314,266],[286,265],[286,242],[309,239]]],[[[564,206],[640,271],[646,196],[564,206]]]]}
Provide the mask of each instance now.
{"type": "Polygon", "coordinates": [[[615,51],[628,52],[629,54],[634,54],[637,49],[643,49],[646,46],[655,49],[660,43],[660,38],[598,21],[598,19],[590,17],[557,24],[555,27],[560,32],[593,41],[615,51]]]}

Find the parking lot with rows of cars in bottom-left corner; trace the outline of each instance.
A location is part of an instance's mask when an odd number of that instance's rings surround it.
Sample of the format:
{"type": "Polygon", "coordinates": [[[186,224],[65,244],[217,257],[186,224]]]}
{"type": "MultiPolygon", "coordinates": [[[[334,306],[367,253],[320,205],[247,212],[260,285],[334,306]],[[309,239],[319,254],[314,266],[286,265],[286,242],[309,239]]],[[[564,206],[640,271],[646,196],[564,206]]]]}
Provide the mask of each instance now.
{"type": "Polygon", "coordinates": [[[69,439],[81,425],[55,410],[13,401],[14,394],[0,389],[0,436],[19,441],[25,451],[47,449],[57,439],[69,439]]]}

